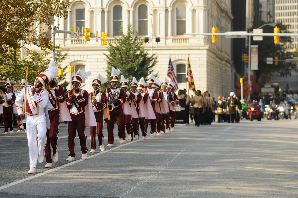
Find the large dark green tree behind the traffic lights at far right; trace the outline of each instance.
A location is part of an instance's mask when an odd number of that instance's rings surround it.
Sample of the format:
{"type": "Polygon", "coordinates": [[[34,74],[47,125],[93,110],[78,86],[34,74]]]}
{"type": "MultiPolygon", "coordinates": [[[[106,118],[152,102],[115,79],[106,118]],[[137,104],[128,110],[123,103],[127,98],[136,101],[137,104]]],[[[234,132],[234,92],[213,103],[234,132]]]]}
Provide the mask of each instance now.
{"type": "MultiPolygon", "coordinates": [[[[263,24],[265,24],[264,21],[261,25],[263,24]]],[[[278,23],[276,26],[280,28],[280,33],[289,33],[287,31],[286,25],[278,23]]],[[[273,33],[273,29],[274,27],[267,25],[263,27],[263,32],[273,33]]],[[[250,31],[252,31],[252,29],[250,31]]],[[[290,43],[291,43],[291,37],[280,37],[279,44],[274,44],[273,37],[270,37],[270,36],[264,36],[263,41],[253,41],[253,37],[251,37],[251,45],[258,45],[259,61],[258,61],[258,70],[255,71],[256,82],[259,82],[262,84],[269,82],[272,76],[274,75],[274,72],[277,69],[283,69],[287,66],[285,62],[278,62],[278,65],[274,65],[274,64],[267,65],[266,61],[263,61],[263,60],[266,60],[267,57],[274,58],[275,56],[277,56],[279,60],[287,58],[285,44],[290,44],[290,43]]],[[[248,52],[248,49],[247,49],[247,52],[248,52]]]]}

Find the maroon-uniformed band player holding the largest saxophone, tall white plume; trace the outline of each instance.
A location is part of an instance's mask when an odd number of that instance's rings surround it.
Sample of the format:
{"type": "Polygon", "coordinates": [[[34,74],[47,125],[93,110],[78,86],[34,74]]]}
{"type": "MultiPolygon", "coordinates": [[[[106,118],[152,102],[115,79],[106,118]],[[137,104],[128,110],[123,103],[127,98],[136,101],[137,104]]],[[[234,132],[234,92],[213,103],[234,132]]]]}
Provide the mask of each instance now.
{"type": "Polygon", "coordinates": [[[122,139],[123,133],[125,133],[125,122],[124,113],[122,109],[122,104],[126,101],[125,92],[121,87],[117,87],[118,75],[121,74],[120,69],[115,69],[112,67],[112,72],[110,76],[111,86],[105,88],[105,94],[108,98],[110,120],[107,122],[108,127],[108,145],[107,147],[112,147],[114,145],[114,123],[116,118],[116,123],[118,125],[118,140],[119,143],[125,143],[122,139]],[[112,108],[113,107],[113,108],[112,108]]]}

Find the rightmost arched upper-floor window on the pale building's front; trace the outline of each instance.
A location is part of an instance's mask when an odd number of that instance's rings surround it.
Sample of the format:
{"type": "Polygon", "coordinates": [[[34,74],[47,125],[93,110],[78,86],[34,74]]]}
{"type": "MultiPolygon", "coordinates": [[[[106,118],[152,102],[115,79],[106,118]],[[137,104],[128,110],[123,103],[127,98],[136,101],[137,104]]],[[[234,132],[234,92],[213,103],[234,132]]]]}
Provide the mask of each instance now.
{"type": "Polygon", "coordinates": [[[182,3],[176,7],[176,32],[177,35],[186,33],[186,6],[182,3]]]}

